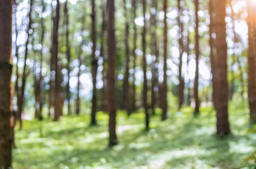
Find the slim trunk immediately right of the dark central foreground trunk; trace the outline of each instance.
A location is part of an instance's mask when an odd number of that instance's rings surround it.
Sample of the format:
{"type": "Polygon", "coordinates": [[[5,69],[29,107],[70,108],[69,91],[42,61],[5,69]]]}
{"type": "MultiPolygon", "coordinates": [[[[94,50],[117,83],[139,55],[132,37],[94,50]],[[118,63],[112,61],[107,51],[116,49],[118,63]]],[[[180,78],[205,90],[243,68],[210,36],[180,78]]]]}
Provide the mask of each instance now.
{"type": "Polygon", "coordinates": [[[124,11],[125,11],[125,77],[124,77],[124,84],[123,84],[123,101],[125,104],[125,110],[127,111],[128,115],[131,113],[131,109],[129,107],[129,63],[130,63],[130,46],[129,46],[129,20],[127,15],[127,8],[126,8],[126,0],[124,2],[124,11]]]}

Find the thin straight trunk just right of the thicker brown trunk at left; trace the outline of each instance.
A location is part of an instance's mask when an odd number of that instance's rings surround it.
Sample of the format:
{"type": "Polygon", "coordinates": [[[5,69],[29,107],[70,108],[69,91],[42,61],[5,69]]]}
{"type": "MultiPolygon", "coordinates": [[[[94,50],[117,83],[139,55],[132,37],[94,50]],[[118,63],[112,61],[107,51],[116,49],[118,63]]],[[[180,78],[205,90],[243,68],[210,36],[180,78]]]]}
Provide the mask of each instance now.
{"type": "Polygon", "coordinates": [[[70,45],[69,45],[69,17],[68,17],[68,8],[67,8],[67,0],[64,6],[64,15],[66,20],[66,46],[67,46],[67,114],[70,115],[70,45]]]}

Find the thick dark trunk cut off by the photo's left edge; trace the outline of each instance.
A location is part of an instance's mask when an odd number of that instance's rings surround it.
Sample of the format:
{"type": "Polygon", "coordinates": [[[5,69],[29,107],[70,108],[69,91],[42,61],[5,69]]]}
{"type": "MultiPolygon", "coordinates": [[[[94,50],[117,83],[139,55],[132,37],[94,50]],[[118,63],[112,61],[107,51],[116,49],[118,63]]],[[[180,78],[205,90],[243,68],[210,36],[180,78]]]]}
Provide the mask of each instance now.
{"type": "Polygon", "coordinates": [[[0,166],[12,167],[12,143],[10,142],[10,105],[12,65],[12,1],[2,0],[0,5],[0,166]]]}

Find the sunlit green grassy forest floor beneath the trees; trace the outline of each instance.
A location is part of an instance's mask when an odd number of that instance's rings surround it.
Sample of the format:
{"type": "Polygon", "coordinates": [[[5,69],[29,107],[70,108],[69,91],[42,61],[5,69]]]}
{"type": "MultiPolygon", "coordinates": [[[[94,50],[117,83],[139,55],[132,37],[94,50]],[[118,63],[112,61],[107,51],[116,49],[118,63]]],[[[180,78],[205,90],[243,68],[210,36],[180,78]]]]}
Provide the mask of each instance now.
{"type": "Polygon", "coordinates": [[[144,131],[143,110],[130,118],[118,112],[119,144],[108,149],[108,115],[97,114],[98,126],[90,127],[88,114],[62,117],[58,122],[25,121],[16,130],[14,169],[239,169],[256,144],[244,105],[230,105],[232,135],[215,136],[212,107],[184,107],[161,122],[151,117],[144,131]]]}

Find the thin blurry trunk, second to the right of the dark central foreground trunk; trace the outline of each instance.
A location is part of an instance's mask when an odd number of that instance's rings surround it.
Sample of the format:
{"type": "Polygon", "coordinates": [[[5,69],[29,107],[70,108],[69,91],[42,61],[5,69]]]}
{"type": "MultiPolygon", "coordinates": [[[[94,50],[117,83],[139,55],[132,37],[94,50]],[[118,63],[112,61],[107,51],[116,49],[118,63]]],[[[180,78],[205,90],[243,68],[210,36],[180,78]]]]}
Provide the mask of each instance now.
{"type": "Polygon", "coordinates": [[[136,77],[135,77],[135,73],[136,73],[136,61],[137,61],[137,55],[136,55],[136,49],[137,49],[137,26],[135,23],[135,19],[136,19],[136,12],[137,12],[137,2],[136,0],[132,1],[133,4],[133,13],[134,13],[134,39],[133,39],[133,69],[134,69],[134,73],[133,73],[133,85],[132,85],[132,110],[135,111],[136,110],[136,85],[135,85],[135,81],[136,81],[136,77]]]}

